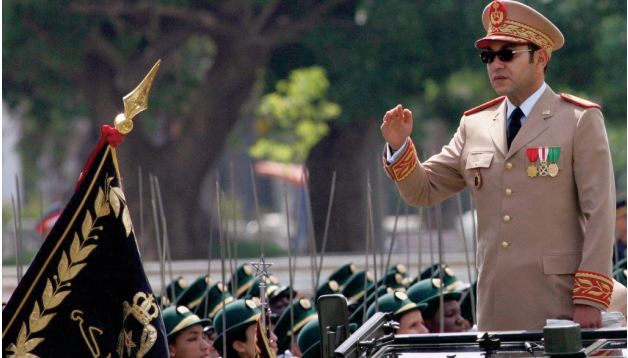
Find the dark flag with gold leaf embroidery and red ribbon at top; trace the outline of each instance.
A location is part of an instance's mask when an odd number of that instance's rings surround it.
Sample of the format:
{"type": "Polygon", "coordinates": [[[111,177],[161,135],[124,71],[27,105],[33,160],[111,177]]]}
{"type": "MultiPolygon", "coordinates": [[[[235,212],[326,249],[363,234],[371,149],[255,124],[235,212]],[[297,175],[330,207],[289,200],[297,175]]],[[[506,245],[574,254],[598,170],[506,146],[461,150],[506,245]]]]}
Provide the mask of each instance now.
{"type": "Polygon", "coordinates": [[[6,357],[167,357],[103,126],[70,202],[2,311],[6,357]]]}

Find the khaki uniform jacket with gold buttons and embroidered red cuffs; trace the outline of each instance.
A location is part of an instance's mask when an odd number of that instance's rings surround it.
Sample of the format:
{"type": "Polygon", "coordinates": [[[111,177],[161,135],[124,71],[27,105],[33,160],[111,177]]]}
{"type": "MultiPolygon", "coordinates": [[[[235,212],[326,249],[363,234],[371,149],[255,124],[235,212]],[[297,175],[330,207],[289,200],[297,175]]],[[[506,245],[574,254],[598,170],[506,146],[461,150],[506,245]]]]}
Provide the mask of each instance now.
{"type": "Polygon", "coordinates": [[[574,303],[608,307],[615,185],[604,119],[592,105],[548,87],[508,150],[506,101],[493,101],[465,112],[449,144],[424,163],[410,139],[402,159],[385,163],[411,205],[471,190],[480,330],[538,330],[548,318],[571,319],[574,303]],[[526,149],[540,146],[560,147],[556,177],[526,174],[526,149]],[[396,169],[407,176],[395,178],[396,169]]]}

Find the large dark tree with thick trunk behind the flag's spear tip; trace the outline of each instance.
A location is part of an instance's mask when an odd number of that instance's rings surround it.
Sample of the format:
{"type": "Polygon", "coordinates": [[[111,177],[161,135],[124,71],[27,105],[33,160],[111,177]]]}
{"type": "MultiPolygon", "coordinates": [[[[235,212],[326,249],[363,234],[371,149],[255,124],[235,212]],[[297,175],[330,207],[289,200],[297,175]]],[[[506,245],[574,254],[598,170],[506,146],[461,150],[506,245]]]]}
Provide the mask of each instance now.
{"type": "Polygon", "coordinates": [[[166,184],[170,237],[184,243],[174,257],[195,257],[206,245],[194,230],[199,187],[273,50],[345,1],[5,1],[5,100],[24,111],[33,159],[42,138],[71,138],[77,116],[110,124],[122,96],[162,59],[150,111],[125,138],[120,164],[130,198],[139,165],[166,184]]]}

